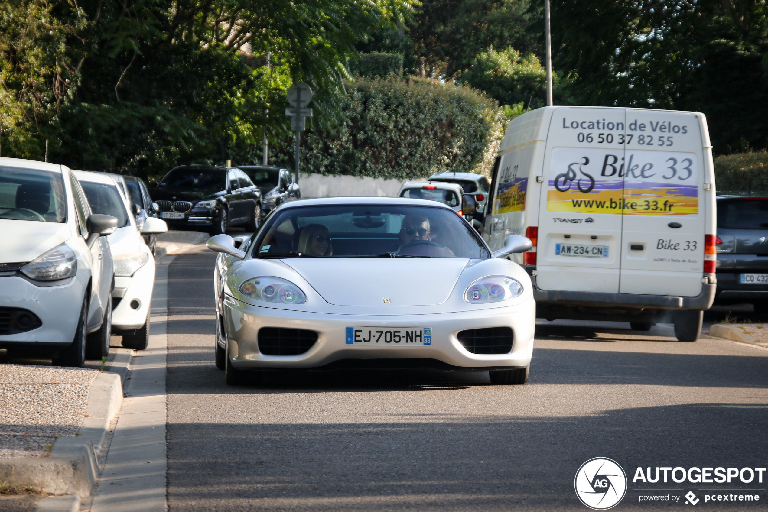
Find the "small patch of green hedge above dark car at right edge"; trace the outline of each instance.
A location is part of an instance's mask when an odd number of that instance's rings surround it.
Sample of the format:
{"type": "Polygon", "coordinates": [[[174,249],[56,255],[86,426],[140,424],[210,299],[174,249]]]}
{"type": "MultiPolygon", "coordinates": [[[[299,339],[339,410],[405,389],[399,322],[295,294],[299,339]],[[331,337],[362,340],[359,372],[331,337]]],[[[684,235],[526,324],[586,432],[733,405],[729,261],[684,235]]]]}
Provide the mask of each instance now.
{"type": "Polygon", "coordinates": [[[768,191],[766,150],[720,155],[714,164],[718,191],[748,194],[768,191]]]}

